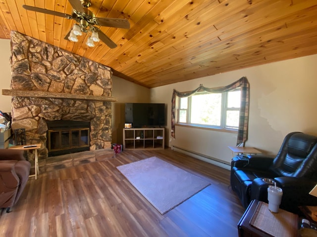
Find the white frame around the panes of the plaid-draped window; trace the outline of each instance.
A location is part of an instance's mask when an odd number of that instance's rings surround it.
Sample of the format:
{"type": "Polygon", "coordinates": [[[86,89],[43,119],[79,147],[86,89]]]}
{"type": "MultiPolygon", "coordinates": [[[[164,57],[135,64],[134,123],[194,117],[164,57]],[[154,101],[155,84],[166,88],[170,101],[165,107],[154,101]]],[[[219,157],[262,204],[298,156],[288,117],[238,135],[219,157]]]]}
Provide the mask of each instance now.
{"type": "MultiPolygon", "coordinates": [[[[191,113],[191,97],[199,94],[210,94],[208,92],[198,92],[192,96],[188,97],[177,97],[176,99],[176,123],[175,125],[180,126],[192,126],[192,127],[198,127],[198,128],[204,128],[204,129],[211,129],[211,130],[223,130],[223,131],[233,131],[238,132],[239,126],[226,126],[226,113],[227,111],[239,111],[240,113],[240,106],[239,107],[228,107],[228,93],[234,92],[234,91],[240,91],[241,93],[241,87],[237,87],[234,90],[226,91],[226,92],[219,92],[221,94],[221,112],[220,112],[220,126],[217,125],[207,125],[207,124],[198,124],[198,123],[192,123],[190,121],[190,113],[191,113]],[[180,103],[181,99],[187,99],[187,109],[180,109],[180,103]],[[186,111],[186,122],[179,122],[180,120],[180,111],[186,111]]],[[[241,96],[240,96],[241,100],[241,96]]],[[[241,103],[240,103],[241,104],[241,103]]]]}

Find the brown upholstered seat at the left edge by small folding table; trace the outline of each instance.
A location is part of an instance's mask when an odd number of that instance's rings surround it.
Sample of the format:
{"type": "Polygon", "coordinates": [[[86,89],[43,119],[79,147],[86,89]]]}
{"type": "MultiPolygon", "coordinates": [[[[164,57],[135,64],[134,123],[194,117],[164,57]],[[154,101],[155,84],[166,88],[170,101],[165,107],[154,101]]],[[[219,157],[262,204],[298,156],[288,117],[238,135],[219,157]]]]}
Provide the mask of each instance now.
{"type": "Polygon", "coordinates": [[[0,149],[0,208],[12,207],[21,196],[29,179],[31,164],[23,151],[0,149]]]}

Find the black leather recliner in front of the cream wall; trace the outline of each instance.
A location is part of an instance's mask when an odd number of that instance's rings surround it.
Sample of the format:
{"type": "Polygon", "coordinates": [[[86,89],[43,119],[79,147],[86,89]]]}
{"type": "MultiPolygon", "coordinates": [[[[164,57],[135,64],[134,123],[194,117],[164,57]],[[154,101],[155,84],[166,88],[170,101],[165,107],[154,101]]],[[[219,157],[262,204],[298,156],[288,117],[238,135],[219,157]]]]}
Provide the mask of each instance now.
{"type": "Polygon", "coordinates": [[[263,155],[235,156],[231,161],[232,190],[247,208],[251,200],[267,202],[269,178],[283,190],[280,208],[299,213],[298,206],[317,205],[309,192],[317,184],[317,137],[289,133],[275,158],[263,155]]]}

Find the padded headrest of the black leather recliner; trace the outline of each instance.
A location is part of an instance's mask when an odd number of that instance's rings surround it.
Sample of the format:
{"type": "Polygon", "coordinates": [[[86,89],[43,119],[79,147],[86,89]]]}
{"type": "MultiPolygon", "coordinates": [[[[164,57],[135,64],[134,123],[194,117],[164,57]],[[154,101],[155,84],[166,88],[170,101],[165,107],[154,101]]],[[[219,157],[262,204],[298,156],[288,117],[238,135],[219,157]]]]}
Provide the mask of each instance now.
{"type": "Polygon", "coordinates": [[[288,153],[306,158],[317,143],[317,137],[305,133],[295,133],[288,140],[288,153]]]}

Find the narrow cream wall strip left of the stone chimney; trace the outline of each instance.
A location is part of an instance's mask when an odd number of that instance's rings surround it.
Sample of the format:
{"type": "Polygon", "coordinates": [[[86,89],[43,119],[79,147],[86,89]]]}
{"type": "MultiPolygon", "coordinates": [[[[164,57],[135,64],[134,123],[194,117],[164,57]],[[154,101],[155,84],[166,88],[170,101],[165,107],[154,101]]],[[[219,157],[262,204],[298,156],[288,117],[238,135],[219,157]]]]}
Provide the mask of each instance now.
{"type": "Polygon", "coordinates": [[[10,40],[0,39],[0,111],[11,112],[11,96],[2,95],[2,89],[10,89],[10,40]]]}

